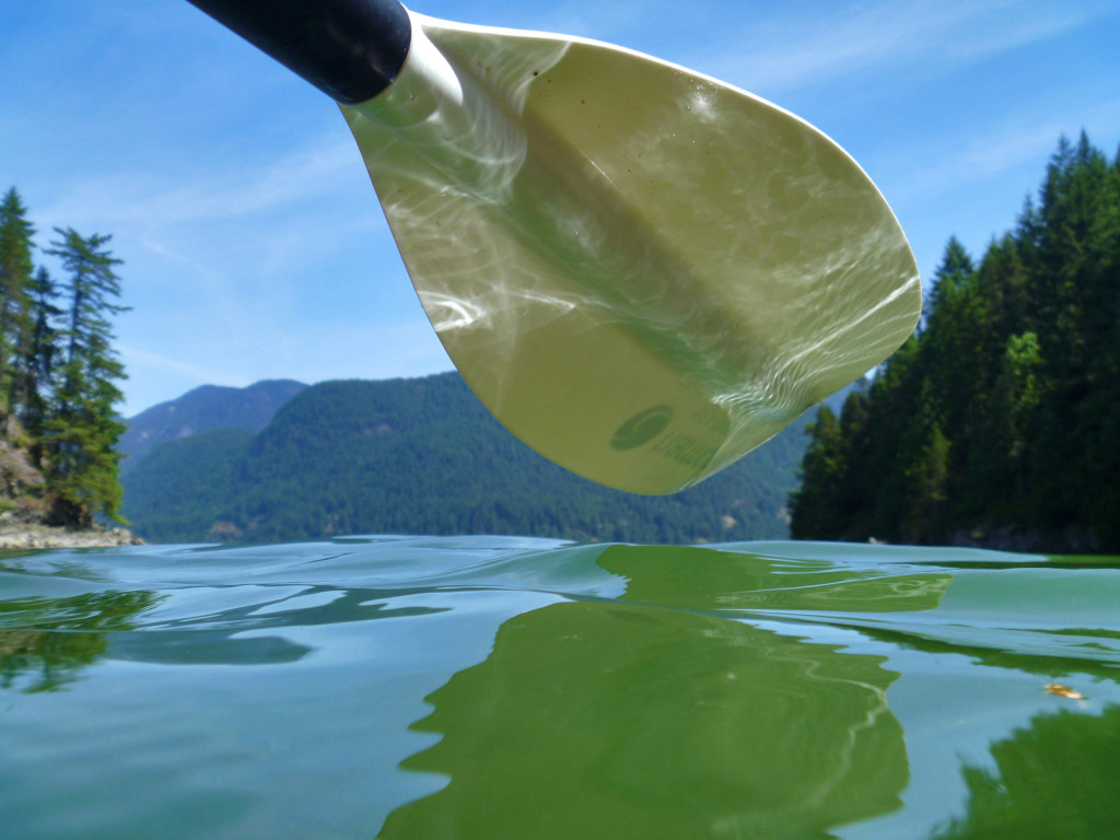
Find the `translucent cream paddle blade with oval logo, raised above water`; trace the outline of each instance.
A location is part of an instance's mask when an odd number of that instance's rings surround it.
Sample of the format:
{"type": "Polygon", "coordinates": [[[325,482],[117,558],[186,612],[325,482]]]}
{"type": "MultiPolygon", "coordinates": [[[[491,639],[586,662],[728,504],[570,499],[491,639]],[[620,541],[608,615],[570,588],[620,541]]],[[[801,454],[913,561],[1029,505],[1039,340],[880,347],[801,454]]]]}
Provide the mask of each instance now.
{"type": "Polygon", "coordinates": [[[897,221],[800,119],[604,44],[412,29],[343,112],[451,360],[557,464],[683,489],[914,329],[897,221]]]}

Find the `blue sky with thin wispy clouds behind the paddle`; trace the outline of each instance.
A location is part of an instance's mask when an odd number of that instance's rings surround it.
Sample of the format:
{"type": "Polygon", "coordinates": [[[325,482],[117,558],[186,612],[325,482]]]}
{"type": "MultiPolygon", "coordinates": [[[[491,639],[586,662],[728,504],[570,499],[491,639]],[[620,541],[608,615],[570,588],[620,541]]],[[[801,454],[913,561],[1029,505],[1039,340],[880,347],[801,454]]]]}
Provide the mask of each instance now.
{"type": "MultiPolygon", "coordinates": [[[[1061,134],[1120,142],[1117,0],[416,9],[619,44],[782,105],[867,170],[924,278],[951,234],[979,256],[1014,225],[1061,134]]],[[[185,0],[0,0],[0,190],[40,246],[113,235],[125,414],[204,383],[451,368],[318,91],[185,0]]]]}

